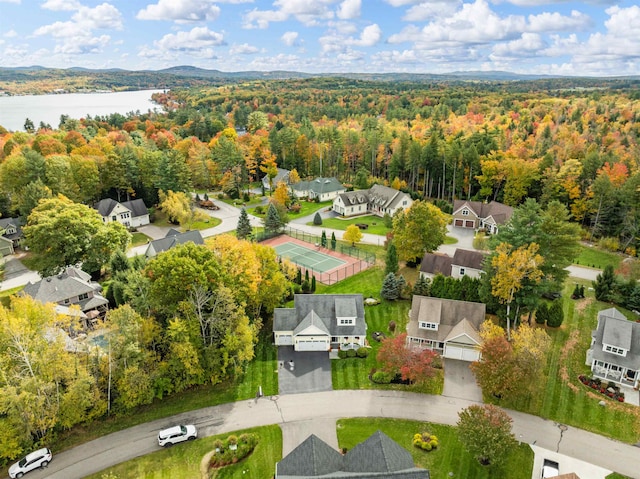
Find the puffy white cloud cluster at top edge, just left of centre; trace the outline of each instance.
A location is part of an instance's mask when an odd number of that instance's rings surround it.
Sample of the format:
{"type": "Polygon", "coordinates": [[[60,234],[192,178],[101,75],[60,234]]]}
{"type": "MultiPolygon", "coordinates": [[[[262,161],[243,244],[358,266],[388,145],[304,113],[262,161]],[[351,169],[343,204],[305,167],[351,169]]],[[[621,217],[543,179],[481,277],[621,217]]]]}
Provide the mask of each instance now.
{"type": "Polygon", "coordinates": [[[333,18],[330,6],[337,0],[276,0],[276,10],[253,9],[243,18],[244,28],[267,28],[269,23],[284,22],[290,17],[306,26],[318,25],[321,20],[333,18]]]}

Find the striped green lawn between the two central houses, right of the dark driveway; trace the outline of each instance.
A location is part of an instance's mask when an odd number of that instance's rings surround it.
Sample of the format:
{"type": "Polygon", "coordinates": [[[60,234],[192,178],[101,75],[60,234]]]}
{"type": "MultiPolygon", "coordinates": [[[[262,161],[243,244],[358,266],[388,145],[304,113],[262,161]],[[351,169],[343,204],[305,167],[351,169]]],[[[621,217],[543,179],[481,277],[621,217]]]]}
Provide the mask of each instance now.
{"type": "MultiPolygon", "coordinates": [[[[367,271],[351,276],[332,286],[319,287],[320,294],[341,294],[358,291],[366,297],[380,298],[380,286],[384,276],[382,268],[370,268],[367,271]]],[[[375,384],[369,380],[371,370],[377,367],[376,354],[380,343],[372,337],[374,331],[382,331],[387,337],[389,321],[395,321],[396,333],[405,331],[410,308],[408,300],[384,301],[375,306],[365,306],[367,319],[367,341],[371,346],[367,358],[336,359],[331,361],[331,379],[333,389],[396,389],[427,394],[441,394],[444,383],[442,369],[437,370],[436,377],[424,385],[405,386],[401,384],[375,384]]]]}

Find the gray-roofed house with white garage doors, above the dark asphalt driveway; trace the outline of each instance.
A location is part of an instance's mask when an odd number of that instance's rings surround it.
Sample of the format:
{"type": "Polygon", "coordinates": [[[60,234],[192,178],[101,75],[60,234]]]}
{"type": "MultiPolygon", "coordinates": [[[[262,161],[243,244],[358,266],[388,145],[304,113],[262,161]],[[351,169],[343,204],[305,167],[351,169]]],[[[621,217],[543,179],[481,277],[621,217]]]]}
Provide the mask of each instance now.
{"type": "Polygon", "coordinates": [[[293,346],[295,351],[357,349],[366,337],[361,294],[296,294],[293,308],[273,312],[276,346],[293,346]]]}

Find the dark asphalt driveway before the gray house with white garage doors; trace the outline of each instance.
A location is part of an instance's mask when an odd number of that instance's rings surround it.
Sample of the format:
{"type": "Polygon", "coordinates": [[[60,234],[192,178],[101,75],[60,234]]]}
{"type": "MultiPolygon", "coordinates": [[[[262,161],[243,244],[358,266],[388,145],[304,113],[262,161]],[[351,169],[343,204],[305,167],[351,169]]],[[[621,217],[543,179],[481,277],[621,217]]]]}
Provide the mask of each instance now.
{"type": "Polygon", "coordinates": [[[297,352],[278,348],[278,389],[282,394],[332,391],[331,360],[327,351],[297,352]],[[293,369],[291,368],[293,361],[293,369]]]}

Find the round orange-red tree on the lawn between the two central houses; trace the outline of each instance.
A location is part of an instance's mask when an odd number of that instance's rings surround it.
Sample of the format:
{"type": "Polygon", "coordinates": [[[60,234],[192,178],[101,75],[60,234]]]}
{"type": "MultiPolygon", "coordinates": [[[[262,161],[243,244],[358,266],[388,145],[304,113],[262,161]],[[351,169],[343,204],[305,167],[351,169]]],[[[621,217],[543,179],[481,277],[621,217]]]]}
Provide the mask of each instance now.
{"type": "Polygon", "coordinates": [[[380,369],[403,381],[424,383],[435,374],[437,353],[430,349],[412,349],[407,346],[407,333],[382,340],[376,359],[380,369]]]}

